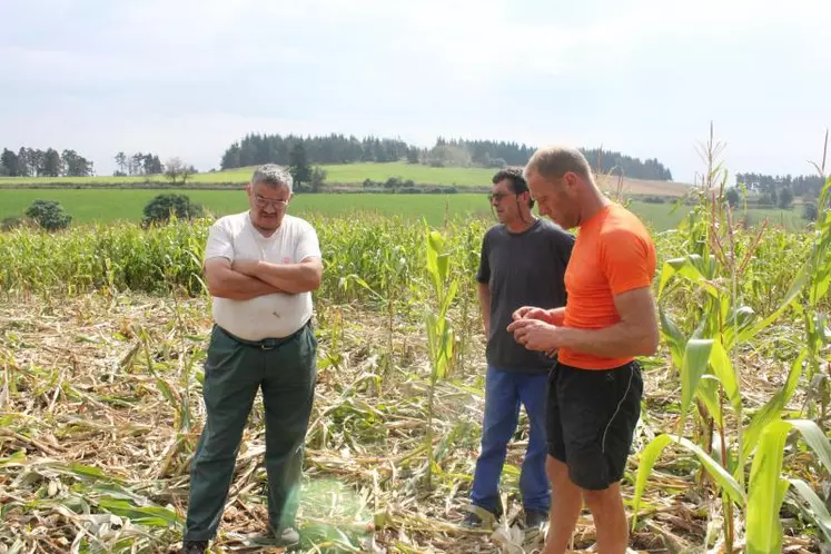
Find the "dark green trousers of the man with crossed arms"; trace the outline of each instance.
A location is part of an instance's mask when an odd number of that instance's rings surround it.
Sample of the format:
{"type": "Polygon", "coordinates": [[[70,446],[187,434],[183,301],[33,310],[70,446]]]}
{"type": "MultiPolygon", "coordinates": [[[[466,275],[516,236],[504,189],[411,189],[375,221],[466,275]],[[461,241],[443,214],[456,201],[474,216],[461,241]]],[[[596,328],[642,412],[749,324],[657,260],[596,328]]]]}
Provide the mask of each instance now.
{"type": "Polygon", "coordinates": [[[314,398],[317,340],[311,325],[290,337],[244,344],[214,326],[205,363],[207,421],[190,469],[186,541],[216,536],[239,444],[258,388],[266,415],[268,520],[294,525],[303,446],[314,398]]]}

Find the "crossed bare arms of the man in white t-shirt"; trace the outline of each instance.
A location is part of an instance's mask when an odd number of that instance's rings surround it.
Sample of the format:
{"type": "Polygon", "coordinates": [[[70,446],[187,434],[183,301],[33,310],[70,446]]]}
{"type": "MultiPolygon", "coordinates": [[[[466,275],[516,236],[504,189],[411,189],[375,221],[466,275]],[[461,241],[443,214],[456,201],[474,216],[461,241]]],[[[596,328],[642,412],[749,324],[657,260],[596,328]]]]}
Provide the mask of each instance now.
{"type": "Polygon", "coordinates": [[[257,259],[210,258],[205,263],[205,277],[212,296],[231,300],[248,300],[274,293],[298,294],[320,286],[320,258],[306,258],[299,264],[271,264],[257,259]]]}

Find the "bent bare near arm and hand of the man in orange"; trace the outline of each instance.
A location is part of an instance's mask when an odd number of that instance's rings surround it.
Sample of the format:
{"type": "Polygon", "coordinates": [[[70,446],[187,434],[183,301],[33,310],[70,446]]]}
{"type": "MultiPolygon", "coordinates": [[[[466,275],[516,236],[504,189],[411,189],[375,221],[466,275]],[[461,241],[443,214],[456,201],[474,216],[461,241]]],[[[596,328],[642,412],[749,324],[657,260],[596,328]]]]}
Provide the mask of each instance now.
{"type": "Polygon", "coordinates": [[[540,319],[517,319],[508,330],[532,350],[568,348],[611,358],[653,355],[659,332],[651,289],[643,287],[615,295],[614,304],[621,320],[603,329],[575,329],[540,319]]]}

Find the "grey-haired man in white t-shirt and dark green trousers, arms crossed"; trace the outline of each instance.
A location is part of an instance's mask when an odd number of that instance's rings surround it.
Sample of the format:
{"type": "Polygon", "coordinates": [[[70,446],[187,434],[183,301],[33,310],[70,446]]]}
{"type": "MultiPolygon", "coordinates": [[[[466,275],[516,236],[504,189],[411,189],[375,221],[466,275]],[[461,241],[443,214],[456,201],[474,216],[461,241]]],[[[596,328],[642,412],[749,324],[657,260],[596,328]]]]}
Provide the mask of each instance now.
{"type": "Polygon", "coordinates": [[[243,431],[263,389],[268,473],[268,537],[299,542],[295,530],[303,445],[316,379],[311,291],[323,266],[315,229],[286,214],[291,176],[269,164],[246,187],[250,209],[218,219],[205,249],[214,329],[205,363],[207,421],[190,473],[184,553],[202,553],[228,496],[243,431]]]}

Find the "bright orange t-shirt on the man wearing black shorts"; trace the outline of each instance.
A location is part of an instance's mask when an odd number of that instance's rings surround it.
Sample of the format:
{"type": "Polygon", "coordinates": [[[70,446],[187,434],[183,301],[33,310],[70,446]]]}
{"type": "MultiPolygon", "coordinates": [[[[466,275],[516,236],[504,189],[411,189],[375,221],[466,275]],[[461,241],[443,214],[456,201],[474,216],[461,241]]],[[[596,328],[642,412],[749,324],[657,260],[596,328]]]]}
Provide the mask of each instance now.
{"type": "MultiPolygon", "coordinates": [[[[601,329],[620,321],[614,295],[651,286],[655,265],[646,227],[622,206],[606,205],[580,226],[565,270],[565,327],[601,329]]],[[[561,348],[558,359],[581,369],[611,369],[633,358],[561,348]]]]}

